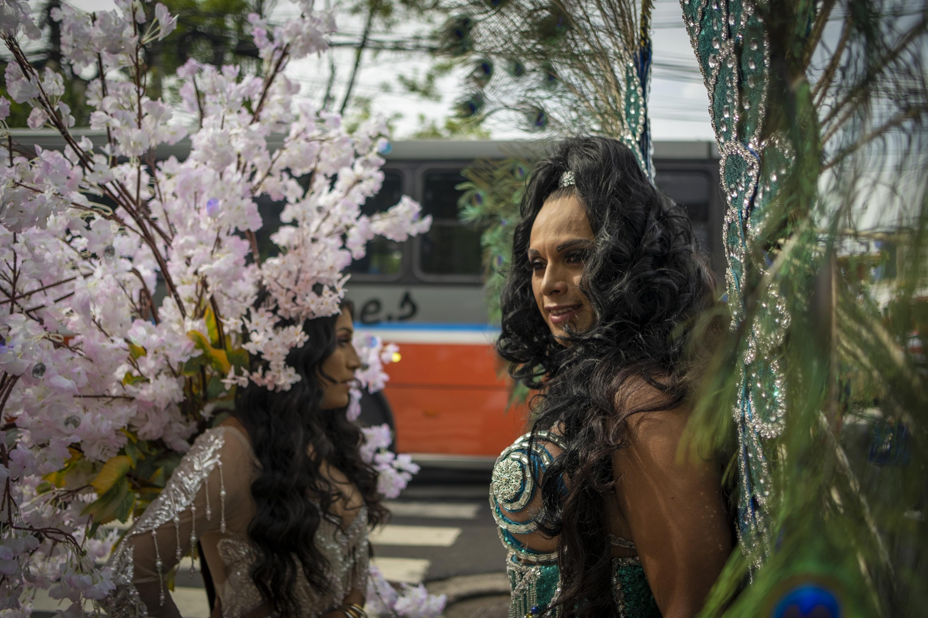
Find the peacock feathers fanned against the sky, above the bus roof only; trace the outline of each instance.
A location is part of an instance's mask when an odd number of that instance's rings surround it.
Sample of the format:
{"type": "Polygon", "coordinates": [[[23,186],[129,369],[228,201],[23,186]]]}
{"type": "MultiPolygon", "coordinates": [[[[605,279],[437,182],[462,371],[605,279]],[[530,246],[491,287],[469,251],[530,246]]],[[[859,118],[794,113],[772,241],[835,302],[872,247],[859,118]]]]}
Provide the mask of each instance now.
{"type": "Polygon", "coordinates": [[[533,131],[621,139],[653,176],[652,0],[454,3],[439,50],[472,68],[464,116],[515,113],[533,131]],[[479,98],[483,105],[467,102],[479,98]]]}

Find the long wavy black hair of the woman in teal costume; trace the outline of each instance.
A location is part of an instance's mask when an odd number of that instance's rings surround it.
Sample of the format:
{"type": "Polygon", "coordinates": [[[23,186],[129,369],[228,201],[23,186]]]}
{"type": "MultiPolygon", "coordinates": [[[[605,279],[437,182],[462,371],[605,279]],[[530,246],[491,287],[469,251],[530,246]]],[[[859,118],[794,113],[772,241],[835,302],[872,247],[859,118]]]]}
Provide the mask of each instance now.
{"type": "Polygon", "coordinates": [[[560,535],[561,607],[568,615],[607,615],[612,557],[604,494],[614,486],[612,454],[625,444],[629,415],[673,410],[687,400],[695,373],[689,334],[714,302],[715,273],[685,211],[651,183],[625,145],[604,137],[568,139],[535,166],[511,264],[496,350],[513,378],[539,390],[533,431],[560,424],[567,442],[542,482],[539,530],[560,535]],[[566,170],[576,183],[561,188],[566,170]],[[595,235],[580,283],[594,320],[585,332],[569,331],[562,346],[535,303],[526,251],[538,211],[569,195],[579,199],[595,235]],[[640,397],[644,392],[648,397],[640,397]]]}

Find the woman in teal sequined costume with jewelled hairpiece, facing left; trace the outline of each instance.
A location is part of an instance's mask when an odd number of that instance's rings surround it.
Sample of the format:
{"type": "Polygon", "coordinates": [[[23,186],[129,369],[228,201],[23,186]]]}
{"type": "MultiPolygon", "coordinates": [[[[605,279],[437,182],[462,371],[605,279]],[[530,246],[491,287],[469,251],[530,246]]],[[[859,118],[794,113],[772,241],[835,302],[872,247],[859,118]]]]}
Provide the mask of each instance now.
{"type": "Polygon", "coordinates": [[[721,465],[680,448],[714,293],[686,214],[625,145],[571,139],[535,167],[496,343],[538,391],[493,473],[510,617],[701,608],[732,547],[721,465]]]}

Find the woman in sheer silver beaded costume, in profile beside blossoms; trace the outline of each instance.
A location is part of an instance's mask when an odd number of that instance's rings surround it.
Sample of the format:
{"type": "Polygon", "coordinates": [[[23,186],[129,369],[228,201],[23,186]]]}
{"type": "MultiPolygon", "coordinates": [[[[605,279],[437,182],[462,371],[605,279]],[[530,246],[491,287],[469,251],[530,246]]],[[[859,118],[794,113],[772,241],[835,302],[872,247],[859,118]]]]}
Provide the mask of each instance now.
{"type": "Polygon", "coordinates": [[[110,616],[180,616],[165,578],[198,542],[216,618],[365,615],[367,531],[386,511],[345,415],[352,313],[303,322],[307,343],[287,357],[300,381],[239,388],[231,416],[197,438],[110,558],[110,616]]]}

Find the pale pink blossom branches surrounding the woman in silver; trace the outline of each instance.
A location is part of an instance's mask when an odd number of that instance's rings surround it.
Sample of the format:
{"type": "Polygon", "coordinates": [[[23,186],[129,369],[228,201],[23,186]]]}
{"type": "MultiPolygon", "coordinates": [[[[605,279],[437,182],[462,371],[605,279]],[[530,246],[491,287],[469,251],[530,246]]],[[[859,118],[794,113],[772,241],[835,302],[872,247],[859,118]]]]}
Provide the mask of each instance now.
{"type": "MultiPolygon", "coordinates": [[[[32,128],[51,126],[66,143],[64,152],[15,143],[0,97],[0,612],[28,612],[36,588],[74,601],[76,615],[82,599],[107,594],[97,560],[113,538],[94,524],[124,521],[139,488],[163,483],[163,473],[143,473],[146,462],[165,445],[186,450],[237,385],[287,389],[298,379],[284,359],[305,334],[275,328],[271,312],[337,312],[342,270],[370,238],[402,240],[431,223],[408,198],[361,215],[380,189],[386,129],[372,120],[349,134],[297,96],[287,61],[324,50],[334,28],[299,4],[303,16],[274,32],[252,19],[264,77],[192,60],[166,77],[199,119],[192,128],[145,90],[144,46],[176,25],[164,6],[55,9],[66,60],[100,69],[87,89],[92,128],[107,135],[96,146],[71,135],[61,76],[34,69],[19,47],[20,34],[39,35],[28,4],[0,6],[7,93],[32,107],[32,128]],[[283,145],[270,147],[280,133],[283,145]],[[186,135],[185,160],[148,158],[186,135]],[[279,255],[264,262],[253,234],[261,195],[287,203],[273,235],[279,255]],[[248,353],[269,368],[250,372],[248,353]]],[[[382,376],[369,367],[376,389],[382,376]]],[[[375,458],[386,448],[378,439],[375,458]]],[[[387,467],[389,495],[414,465],[387,467]]]]}

